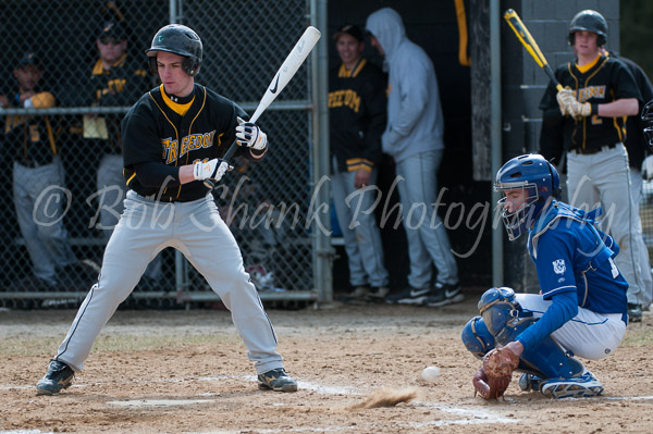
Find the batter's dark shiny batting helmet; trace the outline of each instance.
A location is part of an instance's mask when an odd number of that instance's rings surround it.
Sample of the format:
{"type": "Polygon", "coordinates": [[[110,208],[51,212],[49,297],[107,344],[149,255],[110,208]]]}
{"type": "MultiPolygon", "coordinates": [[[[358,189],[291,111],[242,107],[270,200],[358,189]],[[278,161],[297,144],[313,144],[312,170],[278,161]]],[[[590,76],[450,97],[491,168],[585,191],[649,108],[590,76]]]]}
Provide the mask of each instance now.
{"type": "Polygon", "coordinates": [[[182,64],[186,74],[194,76],[201,65],[201,39],[189,27],[169,24],[161,27],[152,38],[152,46],[145,50],[149,69],[157,74],[157,51],[167,51],[186,58],[182,64]]]}

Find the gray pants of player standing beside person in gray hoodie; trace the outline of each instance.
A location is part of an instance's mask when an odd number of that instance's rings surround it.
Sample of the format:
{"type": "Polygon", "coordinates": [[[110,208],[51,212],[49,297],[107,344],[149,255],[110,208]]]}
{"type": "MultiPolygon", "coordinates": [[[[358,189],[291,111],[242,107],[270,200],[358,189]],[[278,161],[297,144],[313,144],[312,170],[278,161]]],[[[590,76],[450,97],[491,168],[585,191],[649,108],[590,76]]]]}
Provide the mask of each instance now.
{"type": "MultiPolygon", "coordinates": [[[[334,170],[337,170],[335,161],[334,170]]],[[[333,204],[349,264],[349,283],[352,286],[387,286],[381,233],[374,216],[374,201],[381,193],[373,187],[356,188],[355,177],[356,172],[336,172],[331,176],[333,204]]],[[[370,186],[374,184],[377,170],[370,176],[370,186]]]]}

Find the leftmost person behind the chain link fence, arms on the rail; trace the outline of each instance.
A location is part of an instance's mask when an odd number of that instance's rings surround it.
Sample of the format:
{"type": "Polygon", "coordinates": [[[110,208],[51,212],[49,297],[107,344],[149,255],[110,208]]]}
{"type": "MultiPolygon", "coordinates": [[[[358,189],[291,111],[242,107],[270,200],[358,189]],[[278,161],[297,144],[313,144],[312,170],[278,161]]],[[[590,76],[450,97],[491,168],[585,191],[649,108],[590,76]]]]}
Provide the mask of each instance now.
{"type": "MultiPolygon", "coordinates": [[[[7,95],[0,95],[0,107],[54,107],[54,96],[40,86],[45,72],[38,55],[26,52],[13,70],[16,86],[7,95]]],[[[8,115],[5,119],[4,148],[13,157],[16,220],[34,273],[34,278],[21,281],[22,290],[57,290],[59,284],[70,285],[63,277],[77,263],[62,221],[64,173],[58,139],[57,124],[49,115],[8,115]]]]}

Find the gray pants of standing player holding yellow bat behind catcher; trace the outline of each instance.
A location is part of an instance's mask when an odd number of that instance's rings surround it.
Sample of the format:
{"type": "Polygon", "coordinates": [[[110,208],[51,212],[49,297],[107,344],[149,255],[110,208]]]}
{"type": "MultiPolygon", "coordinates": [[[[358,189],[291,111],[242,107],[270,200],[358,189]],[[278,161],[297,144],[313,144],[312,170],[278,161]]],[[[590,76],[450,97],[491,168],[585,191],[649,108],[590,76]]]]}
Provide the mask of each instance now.
{"type": "MultiPolygon", "coordinates": [[[[645,255],[639,207],[630,191],[628,152],[624,145],[604,148],[591,156],[567,153],[567,191],[569,203],[586,211],[601,204],[601,226],[619,246],[617,268],[628,282],[628,302],[643,303],[645,270],[651,265],[645,255]]],[[[648,283],[651,285],[651,282],[648,283]]]]}

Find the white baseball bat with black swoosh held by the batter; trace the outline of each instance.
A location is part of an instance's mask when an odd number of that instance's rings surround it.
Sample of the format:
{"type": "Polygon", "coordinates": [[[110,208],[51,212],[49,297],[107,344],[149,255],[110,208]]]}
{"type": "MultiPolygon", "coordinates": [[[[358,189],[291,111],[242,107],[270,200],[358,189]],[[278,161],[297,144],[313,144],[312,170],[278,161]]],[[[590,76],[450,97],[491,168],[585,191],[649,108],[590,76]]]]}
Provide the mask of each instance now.
{"type": "MultiPolygon", "coordinates": [[[[295,76],[295,73],[297,72],[297,70],[299,70],[299,66],[301,66],[301,63],[304,63],[306,58],[308,58],[308,54],[313,49],[316,44],[318,44],[318,40],[320,40],[320,36],[322,36],[322,34],[313,26],[309,26],[304,32],[297,44],[295,44],[293,50],[289,52],[289,54],[279,67],[279,71],[276,71],[276,74],[274,74],[274,77],[270,82],[266,94],[261,98],[258,107],[256,108],[256,111],[249,119],[249,122],[256,123],[256,121],[263,113],[263,111],[266,111],[268,106],[270,106],[272,101],[274,101],[274,99],[279,96],[279,94],[281,94],[283,88],[288,84],[293,76],[295,76]]],[[[231,158],[234,156],[237,149],[238,144],[236,142],[236,140],[234,140],[234,142],[229,147],[222,159],[229,162],[229,160],[231,160],[231,158]]],[[[207,187],[211,189],[215,188],[215,185],[211,179],[205,179],[204,183],[207,187]]]]}

